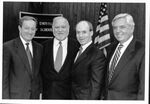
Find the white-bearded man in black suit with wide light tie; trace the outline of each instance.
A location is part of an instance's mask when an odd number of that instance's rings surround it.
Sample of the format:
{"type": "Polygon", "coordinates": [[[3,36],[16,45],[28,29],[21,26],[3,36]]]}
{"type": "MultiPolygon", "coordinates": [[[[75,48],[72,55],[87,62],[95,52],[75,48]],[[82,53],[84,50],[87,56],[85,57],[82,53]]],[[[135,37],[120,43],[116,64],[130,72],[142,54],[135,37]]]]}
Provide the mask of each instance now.
{"type": "Polygon", "coordinates": [[[78,51],[79,43],[68,37],[69,23],[64,17],[53,20],[55,38],[43,43],[41,67],[43,99],[70,99],[70,71],[78,51]]]}

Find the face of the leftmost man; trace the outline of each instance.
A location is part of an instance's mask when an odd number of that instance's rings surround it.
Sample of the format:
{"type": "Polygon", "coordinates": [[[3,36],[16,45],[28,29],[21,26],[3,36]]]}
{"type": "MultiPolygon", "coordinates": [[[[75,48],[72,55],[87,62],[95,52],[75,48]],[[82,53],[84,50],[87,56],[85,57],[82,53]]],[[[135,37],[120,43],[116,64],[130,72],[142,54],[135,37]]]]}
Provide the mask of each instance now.
{"type": "Polygon", "coordinates": [[[36,33],[36,22],[33,20],[24,20],[22,26],[18,26],[21,37],[26,41],[30,42],[36,33]]]}

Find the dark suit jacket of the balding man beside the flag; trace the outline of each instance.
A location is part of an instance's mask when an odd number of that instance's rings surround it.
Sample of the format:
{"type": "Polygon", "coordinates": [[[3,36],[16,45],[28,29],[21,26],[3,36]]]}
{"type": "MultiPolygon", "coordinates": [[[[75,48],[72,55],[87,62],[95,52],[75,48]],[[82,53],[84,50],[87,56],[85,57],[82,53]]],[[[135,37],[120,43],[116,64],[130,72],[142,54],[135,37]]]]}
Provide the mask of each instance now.
{"type": "Polygon", "coordinates": [[[72,68],[72,99],[100,99],[105,62],[104,54],[94,44],[86,48],[72,68]]]}

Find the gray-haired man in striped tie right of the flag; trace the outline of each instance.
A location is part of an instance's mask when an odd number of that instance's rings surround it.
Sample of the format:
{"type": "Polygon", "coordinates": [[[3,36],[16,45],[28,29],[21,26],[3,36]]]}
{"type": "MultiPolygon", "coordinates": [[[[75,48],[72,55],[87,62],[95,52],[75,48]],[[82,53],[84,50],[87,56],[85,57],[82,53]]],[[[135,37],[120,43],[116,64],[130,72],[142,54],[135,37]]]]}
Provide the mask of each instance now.
{"type": "Polygon", "coordinates": [[[135,39],[130,14],[114,17],[112,26],[118,44],[108,52],[108,100],[144,100],[145,46],[135,39]]]}

